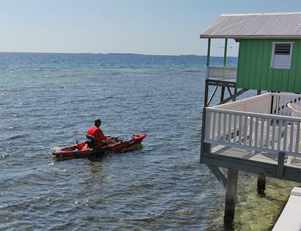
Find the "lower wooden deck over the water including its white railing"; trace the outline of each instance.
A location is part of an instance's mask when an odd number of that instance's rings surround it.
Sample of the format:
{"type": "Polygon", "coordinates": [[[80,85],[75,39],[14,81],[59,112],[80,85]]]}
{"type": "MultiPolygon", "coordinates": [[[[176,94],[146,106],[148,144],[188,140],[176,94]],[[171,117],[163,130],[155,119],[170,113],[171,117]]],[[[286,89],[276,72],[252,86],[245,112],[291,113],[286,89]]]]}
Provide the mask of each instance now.
{"type": "Polygon", "coordinates": [[[205,107],[200,163],[224,186],[218,167],[301,183],[301,118],[291,116],[292,102],[300,105],[300,95],[267,93],[205,107]]]}

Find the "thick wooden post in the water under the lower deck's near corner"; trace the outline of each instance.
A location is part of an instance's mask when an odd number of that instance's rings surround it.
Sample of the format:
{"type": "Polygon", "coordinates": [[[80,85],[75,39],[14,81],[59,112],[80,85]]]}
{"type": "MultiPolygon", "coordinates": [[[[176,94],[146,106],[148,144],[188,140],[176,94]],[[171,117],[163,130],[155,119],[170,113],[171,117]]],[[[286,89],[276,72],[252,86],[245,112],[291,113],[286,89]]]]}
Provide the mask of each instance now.
{"type": "Polygon", "coordinates": [[[238,171],[228,169],[227,188],[225,196],[224,222],[232,223],[235,216],[235,202],[237,194],[238,171]]]}

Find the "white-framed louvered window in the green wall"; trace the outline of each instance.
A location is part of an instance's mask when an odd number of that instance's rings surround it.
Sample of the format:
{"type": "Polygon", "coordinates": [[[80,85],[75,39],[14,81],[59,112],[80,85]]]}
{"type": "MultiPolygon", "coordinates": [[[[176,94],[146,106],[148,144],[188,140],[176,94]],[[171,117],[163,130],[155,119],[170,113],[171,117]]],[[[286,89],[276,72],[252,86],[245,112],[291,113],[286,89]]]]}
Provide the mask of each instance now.
{"type": "Polygon", "coordinates": [[[293,42],[291,43],[273,43],[272,50],[272,69],[290,69],[292,59],[293,42]]]}

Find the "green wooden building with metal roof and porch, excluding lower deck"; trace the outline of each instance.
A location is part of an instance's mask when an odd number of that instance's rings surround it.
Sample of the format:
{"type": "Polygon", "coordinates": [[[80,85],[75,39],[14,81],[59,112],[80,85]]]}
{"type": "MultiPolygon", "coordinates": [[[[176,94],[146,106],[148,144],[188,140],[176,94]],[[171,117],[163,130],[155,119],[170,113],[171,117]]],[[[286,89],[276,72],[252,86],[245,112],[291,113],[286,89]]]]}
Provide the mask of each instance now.
{"type": "Polygon", "coordinates": [[[239,43],[237,89],[301,93],[301,12],[221,15],[200,38],[209,38],[207,66],[211,38],[225,38],[225,59],[228,39],[239,43]]]}

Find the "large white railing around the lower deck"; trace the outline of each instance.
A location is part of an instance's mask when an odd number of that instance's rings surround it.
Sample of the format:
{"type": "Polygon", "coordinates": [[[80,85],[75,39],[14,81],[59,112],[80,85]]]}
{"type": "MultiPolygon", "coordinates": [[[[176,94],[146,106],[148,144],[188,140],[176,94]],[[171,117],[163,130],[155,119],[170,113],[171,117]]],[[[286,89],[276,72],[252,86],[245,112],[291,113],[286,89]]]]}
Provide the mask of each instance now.
{"type": "Polygon", "coordinates": [[[204,142],[255,151],[301,156],[301,118],[288,103],[301,95],[267,93],[206,108],[204,142]]]}

